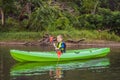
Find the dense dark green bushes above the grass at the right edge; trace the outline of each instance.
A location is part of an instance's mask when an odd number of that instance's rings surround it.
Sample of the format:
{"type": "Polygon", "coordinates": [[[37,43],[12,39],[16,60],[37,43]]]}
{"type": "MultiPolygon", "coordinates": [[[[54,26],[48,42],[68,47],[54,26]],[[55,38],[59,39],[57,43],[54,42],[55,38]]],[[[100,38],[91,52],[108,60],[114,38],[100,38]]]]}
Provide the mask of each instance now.
{"type": "Polygon", "coordinates": [[[79,29],[97,29],[109,30],[110,32],[119,33],[120,30],[120,12],[110,11],[109,9],[99,8],[97,14],[84,14],[78,18],[79,29]]]}

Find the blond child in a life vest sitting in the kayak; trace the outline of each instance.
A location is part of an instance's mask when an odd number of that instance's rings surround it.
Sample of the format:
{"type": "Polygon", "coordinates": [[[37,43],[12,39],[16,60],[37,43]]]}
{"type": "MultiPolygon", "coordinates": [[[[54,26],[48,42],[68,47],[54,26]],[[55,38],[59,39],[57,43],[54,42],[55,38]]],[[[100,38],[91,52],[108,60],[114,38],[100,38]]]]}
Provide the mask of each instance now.
{"type": "Polygon", "coordinates": [[[57,42],[58,42],[57,46],[55,46],[55,44],[54,44],[55,50],[56,51],[60,50],[62,53],[65,53],[66,52],[66,44],[65,44],[65,42],[63,42],[62,35],[57,36],[57,42]]]}

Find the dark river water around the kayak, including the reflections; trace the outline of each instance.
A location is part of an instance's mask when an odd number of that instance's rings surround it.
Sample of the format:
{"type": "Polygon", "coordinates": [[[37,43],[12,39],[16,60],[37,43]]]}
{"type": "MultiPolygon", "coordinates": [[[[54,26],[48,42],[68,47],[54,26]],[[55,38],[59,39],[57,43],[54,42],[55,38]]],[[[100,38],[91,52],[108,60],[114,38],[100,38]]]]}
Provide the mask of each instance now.
{"type": "MultiPolygon", "coordinates": [[[[98,46],[73,46],[85,49],[98,46]]],[[[68,62],[19,63],[10,49],[51,51],[49,46],[0,46],[0,80],[120,80],[120,47],[111,47],[108,56],[68,62]]]]}

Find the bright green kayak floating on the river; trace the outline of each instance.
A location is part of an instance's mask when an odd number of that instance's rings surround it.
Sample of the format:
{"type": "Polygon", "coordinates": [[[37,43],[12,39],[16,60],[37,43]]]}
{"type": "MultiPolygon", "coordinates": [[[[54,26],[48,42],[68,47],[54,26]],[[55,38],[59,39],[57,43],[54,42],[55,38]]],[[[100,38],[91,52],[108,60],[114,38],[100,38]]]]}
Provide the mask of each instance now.
{"type": "MultiPolygon", "coordinates": [[[[110,52],[110,48],[90,48],[83,50],[67,50],[60,56],[60,61],[80,60],[104,57],[110,52]]],[[[58,61],[55,51],[52,52],[29,52],[10,50],[11,56],[20,62],[28,61],[58,61]]]]}

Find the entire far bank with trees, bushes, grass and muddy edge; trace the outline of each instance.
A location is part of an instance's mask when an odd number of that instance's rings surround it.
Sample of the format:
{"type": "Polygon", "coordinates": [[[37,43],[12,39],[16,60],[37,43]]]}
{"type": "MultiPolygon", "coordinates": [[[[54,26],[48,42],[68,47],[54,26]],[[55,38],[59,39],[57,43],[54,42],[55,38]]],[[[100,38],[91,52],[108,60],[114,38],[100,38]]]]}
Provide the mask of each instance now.
{"type": "Polygon", "coordinates": [[[62,34],[68,44],[119,43],[119,4],[119,0],[3,0],[0,45],[45,45],[45,34],[62,34]]]}

